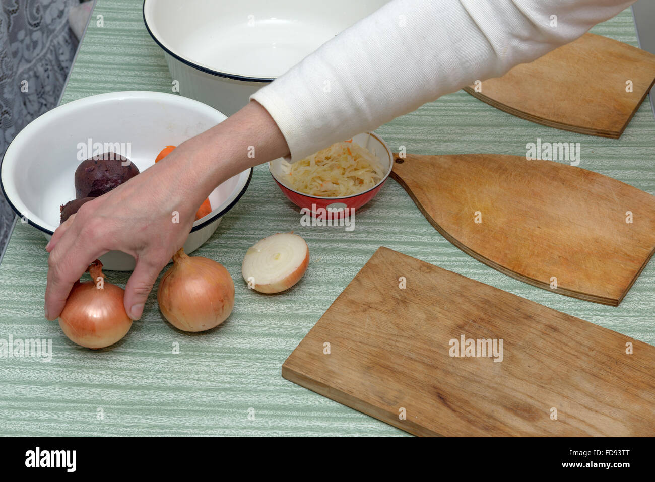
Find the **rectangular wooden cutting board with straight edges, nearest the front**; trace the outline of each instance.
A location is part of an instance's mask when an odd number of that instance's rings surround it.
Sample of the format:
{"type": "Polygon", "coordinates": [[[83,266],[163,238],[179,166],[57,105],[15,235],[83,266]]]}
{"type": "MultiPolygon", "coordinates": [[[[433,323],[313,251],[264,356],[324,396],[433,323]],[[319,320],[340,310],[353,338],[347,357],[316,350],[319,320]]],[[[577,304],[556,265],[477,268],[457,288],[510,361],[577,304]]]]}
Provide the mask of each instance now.
{"type": "Polygon", "coordinates": [[[653,346],[379,248],[282,376],[419,436],[652,436],[653,367],[653,346]],[[451,357],[462,335],[502,361],[451,357]]]}

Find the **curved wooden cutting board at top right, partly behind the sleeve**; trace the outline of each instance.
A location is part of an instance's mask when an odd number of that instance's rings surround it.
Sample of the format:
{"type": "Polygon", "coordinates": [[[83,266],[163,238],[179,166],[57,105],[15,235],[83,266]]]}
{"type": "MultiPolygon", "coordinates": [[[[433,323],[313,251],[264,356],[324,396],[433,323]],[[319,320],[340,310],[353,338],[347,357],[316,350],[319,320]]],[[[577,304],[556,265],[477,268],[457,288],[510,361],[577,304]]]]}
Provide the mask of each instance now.
{"type": "Polygon", "coordinates": [[[502,111],[557,129],[618,139],[655,82],[655,55],[586,33],[502,77],[464,90],[502,111]],[[632,92],[626,92],[631,81],[632,92]]]}

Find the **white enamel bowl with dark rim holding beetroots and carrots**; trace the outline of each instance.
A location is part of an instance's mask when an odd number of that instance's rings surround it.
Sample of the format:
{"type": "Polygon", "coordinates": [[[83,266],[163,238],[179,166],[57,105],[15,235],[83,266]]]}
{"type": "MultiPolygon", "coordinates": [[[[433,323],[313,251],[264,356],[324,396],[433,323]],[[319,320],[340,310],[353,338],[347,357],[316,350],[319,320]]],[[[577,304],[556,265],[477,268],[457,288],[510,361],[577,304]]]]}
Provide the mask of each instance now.
{"type": "MultiPolygon", "coordinates": [[[[77,156],[88,139],[130,143],[128,157],[143,172],[166,145],[179,145],[225,119],[208,105],[160,92],[111,92],[65,103],[30,122],[10,143],[0,165],[0,187],[22,222],[50,239],[59,225],[60,206],[75,199],[77,156]]],[[[248,169],[214,189],[212,212],[193,224],[184,245],[187,253],[212,236],[251,177],[248,169]]],[[[134,258],[121,251],[109,251],[100,261],[107,270],[134,269],[134,258]]]]}

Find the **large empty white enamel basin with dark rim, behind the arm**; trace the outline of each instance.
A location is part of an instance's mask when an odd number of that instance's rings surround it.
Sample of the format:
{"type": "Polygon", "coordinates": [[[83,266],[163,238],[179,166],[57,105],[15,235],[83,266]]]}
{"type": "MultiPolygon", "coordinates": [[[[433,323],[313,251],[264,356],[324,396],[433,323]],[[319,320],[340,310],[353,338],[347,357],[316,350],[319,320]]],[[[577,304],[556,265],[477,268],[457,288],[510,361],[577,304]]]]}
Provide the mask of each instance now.
{"type": "Polygon", "coordinates": [[[388,0],[144,0],[179,93],[232,115],[256,90],[388,0]]]}

